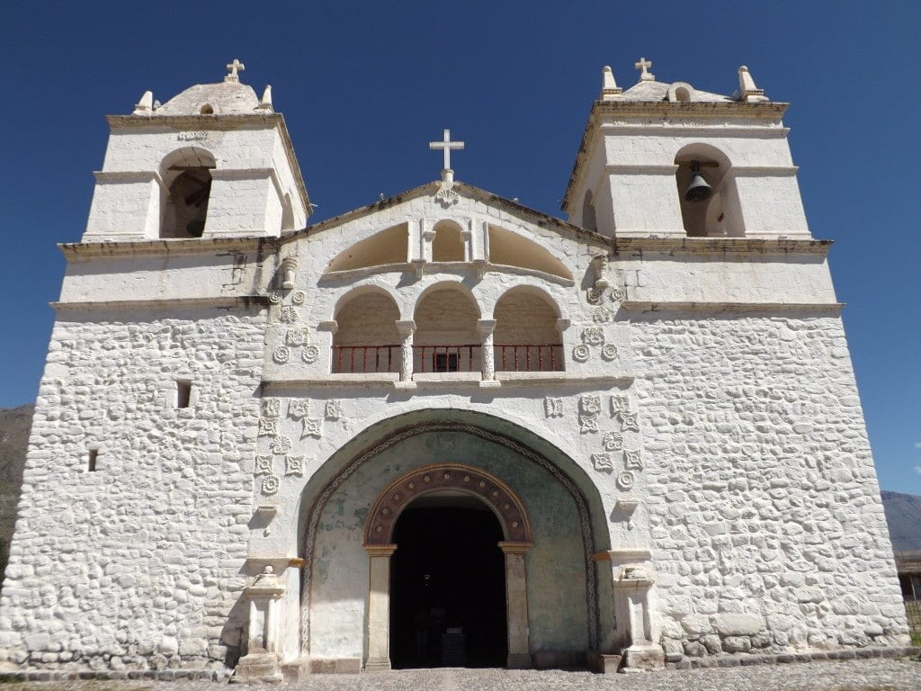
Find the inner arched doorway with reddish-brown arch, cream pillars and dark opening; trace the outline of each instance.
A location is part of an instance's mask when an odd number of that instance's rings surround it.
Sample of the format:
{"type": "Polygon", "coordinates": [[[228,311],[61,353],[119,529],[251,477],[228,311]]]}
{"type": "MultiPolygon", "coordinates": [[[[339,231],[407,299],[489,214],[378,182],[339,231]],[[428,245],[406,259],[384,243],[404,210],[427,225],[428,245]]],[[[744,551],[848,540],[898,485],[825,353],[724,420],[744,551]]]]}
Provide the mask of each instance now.
{"type": "MultiPolygon", "coordinates": [[[[425,519],[426,516],[422,518],[425,519]]],[[[444,519],[446,515],[442,514],[439,518],[444,519]]],[[[436,654],[437,662],[441,664],[463,666],[467,664],[467,653],[474,650],[477,657],[482,658],[477,662],[494,663],[497,650],[503,650],[501,642],[495,643],[496,632],[501,632],[502,626],[490,626],[488,621],[500,614],[506,617],[507,645],[504,650],[504,663],[509,667],[530,667],[528,579],[524,556],[531,545],[533,538],[530,520],[524,504],[518,495],[494,474],[461,463],[437,463],[417,468],[395,479],[375,500],[365,526],[365,549],[370,557],[366,668],[391,669],[394,652],[391,643],[394,641],[402,647],[403,666],[410,666],[409,662],[413,658],[418,665],[426,664],[418,660],[420,657],[425,657],[428,662],[436,662],[433,660],[436,654]],[[412,579],[414,574],[418,574],[425,580],[427,565],[431,567],[427,571],[430,578],[440,574],[446,580],[453,581],[442,583],[437,589],[433,586],[432,594],[439,600],[426,603],[425,594],[420,597],[417,592],[417,583],[404,583],[395,578],[392,557],[394,552],[400,549],[399,542],[396,542],[400,537],[397,528],[403,515],[407,511],[412,512],[414,505],[419,509],[445,509],[448,508],[445,506],[446,499],[449,506],[454,504],[454,509],[471,506],[479,509],[481,505],[485,506],[498,524],[498,531],[495,530],[495,523],[486,519],[476,519],[469,513],[462,515],[456,510],[451,512],[449,518],[460,521],[461,525],[452,525],[451,521],[442,522],[440,526],[437,522],[431,521],[420,523],[410,513],[409,518],[403,521],[405,527],[402,528],[402,535],[408,538],[409,546],[409,556],[402,560],[406,565],[406,572],[402,575],[412,579]],[[459,502],[462,502],[460,507],[459,502]],[[478,522],[482,523],[482,530],[470,530],[472,523],[478,522]],[[441,528],[440,531],[437,530],[438,527],[441,528]],[[495,574],[495,568],[491,568],[491,563],[495,563],[491,557],[494,557],[495,553],[491,554],[490,543],[496,537],[499,541],[493,544],[503,555],[501,564],[504,574],[501,576],[495,574]],[[468,542],[469,545],[465,545],[468,542]],[[465,547],[470,546],[473,551],[468,554],[465,547]],[[431,557],[434,555],[437,555],[437,558],[431,557]],[[416,558],[421,560],[421,568],[416,558]],[[468,580],[464,584],[463,580],[455,580],[457,573],[449,575],[452,568],[451,560],[455,562],[454,568],[458,569],[458,565],[464,559],[472,562],[471,573],[468,576],[472,576],[478,570],[490,573],[488,592],[489,600],[493,604],[488,608],[488,614],[484,613],[484,621],[468,622],[468,625],[473,623],[478,634],[482,632],[485,638],[475,641],[471,648],[467,647],[466,640],[462,638],[462,621],[472,613],[465,612],[463,608],[465,603],[472,602],[476,597],[478,583],[468,580]],[[504,598],[502,591],[495,591],[496,586],[503,581],[504,598]],[[394,584],[393,588],[391,584],[394,584]],[[451,585],[456,585],[460,592],[450,593],[451,585]],[[393,608],[395,603],[391,597],[397,594],[404,598],[399,610],[393,608]],[[450,603],[447,599],[440,599],[442,596],[448,598],[449,595],[450,603]],[[425,614],[426,604],[428,616],[432,621],[424,622],[421,616],[425,614]],[[408,623],[407,617],[413,617],[409,620],[411,623],[408,623]],[[454,620],[449,621],[449,617],[453,617],[454,620]],[[401,628],[394,630],[394,626],[401,628]],[[431,647],[426,648],[424,653],[422,650],[407,652],[407,630],[415,631],[417,628],[428,632],[431,647]],[[433,636],[442,635],[449,638],[432,640],[433,636]]],[[[478,610],[481,609],[481,604],[475,606],[478,610]]],[[[483,603],[483,606],[486,604],[483,603]]]]}

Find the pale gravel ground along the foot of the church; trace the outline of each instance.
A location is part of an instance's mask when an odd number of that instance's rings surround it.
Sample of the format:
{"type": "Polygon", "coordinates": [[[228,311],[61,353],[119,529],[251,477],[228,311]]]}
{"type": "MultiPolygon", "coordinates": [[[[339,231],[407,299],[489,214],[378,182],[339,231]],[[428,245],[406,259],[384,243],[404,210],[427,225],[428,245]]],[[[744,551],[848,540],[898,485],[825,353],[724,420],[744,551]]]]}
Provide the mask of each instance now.
{"type": "MultiPolygon", "coordinates": [[[[199,691],[206,681],[26,682],[4,691],[199,691]]],[[[600,675],[558,670],[406,670],[355,675],[315,674],[297,685],[234,685],[239,691],[921,691],[921,662],[906,658],[764,664],[600,675]]]]}

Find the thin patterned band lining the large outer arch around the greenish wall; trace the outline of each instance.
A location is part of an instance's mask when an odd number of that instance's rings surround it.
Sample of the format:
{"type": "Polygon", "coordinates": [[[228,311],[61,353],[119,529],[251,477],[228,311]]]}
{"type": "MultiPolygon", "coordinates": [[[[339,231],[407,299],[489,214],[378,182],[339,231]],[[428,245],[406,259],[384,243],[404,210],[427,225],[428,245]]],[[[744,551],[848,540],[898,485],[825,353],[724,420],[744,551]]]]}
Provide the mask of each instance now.
{"type": "Polygon", "coordinates": [[[320,518],[326,503],[332,497],[333,493],[349,477],[356,473],[358,468],[367,463],[379,453],[391,449],[391,447],[400,442],[411,439],[419,434],[428,432],[466,432],[480,439],[492,441],[499,446],[505,447],[510,451],[515,451],[531,463],[536,463],[547,473],[551,474],[560,485],[564,486],[566,492],[576,503],[578,512],[579,527],[582,533],[583,558],[585,562],[585,580],[586,580],[586,600],[589,613],[589,648],[598,650],[599,643],[599,603],[598,603],[598,574],[595,570],[595,564],[592,561],[594,553],[594,530],[592,529],[591,517],[589,516],[589,504],[586,501],[582,491],[576,484],[561,471],[555,463],[543,456],[541,453],[534,451],[529,446],[521,443],[518,439],[513,439],[507,435],[500,434],[483,427],[478,427],[469,423],[452,422],[452,421],[433,421],[423,422],[412,427],[402,427],[397,429],[385,439],[381,439],[375,444],[359,451],[344,468],[335,474],[332,479],[323,486],[319,497],[313,502],[308,518],[307,537],[304,541],[304,571],[303,571],[303,593],[304,602],[301,606],[301,650],[309,652],[310,644],[310,607],[312,600],[312,589],[310,576],[313,571],[313,557],[317,544],[317,533],[320,526],[320,518]]]}

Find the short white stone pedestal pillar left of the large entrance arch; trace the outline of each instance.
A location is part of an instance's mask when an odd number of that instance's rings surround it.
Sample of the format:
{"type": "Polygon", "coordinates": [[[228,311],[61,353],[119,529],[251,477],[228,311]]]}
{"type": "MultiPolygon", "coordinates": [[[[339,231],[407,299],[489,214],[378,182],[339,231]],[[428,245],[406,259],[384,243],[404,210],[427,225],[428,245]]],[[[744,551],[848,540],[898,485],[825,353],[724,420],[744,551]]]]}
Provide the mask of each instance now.
{"type": "Polygon", "coordinates": [[[280,682],[282,637],[279,629],[279,608],[285,586],[275,576],[271,566],[265,567],[244,592],[250,601],[247,653],[237,664],[235,673],[240,681],[280,682]]]}

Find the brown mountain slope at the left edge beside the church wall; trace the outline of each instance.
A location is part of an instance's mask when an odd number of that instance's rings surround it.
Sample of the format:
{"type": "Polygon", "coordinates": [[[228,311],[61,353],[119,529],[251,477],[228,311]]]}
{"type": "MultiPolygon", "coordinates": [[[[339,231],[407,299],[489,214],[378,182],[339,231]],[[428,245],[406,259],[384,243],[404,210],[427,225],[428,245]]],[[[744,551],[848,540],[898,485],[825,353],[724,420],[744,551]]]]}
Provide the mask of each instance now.
{"type": "Polygon", "coordinates": [[[33,404],[0,408],[0,582],[3,582],[9,543],[13,539],[34,410],[33,404]]]}

